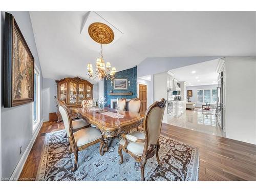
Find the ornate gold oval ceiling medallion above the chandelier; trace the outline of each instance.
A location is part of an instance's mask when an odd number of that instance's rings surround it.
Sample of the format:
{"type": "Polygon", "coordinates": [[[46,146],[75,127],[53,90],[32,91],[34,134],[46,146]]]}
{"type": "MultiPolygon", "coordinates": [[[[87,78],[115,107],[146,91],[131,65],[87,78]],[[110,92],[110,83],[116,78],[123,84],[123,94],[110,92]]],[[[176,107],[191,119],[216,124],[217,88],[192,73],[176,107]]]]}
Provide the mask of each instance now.
{"type": "Polygon", "coordinates": [[[90,37],[99,44],[110,44],[114,40],[113,30],[102,23],[93,23],[88,28],[90,37]]]}

